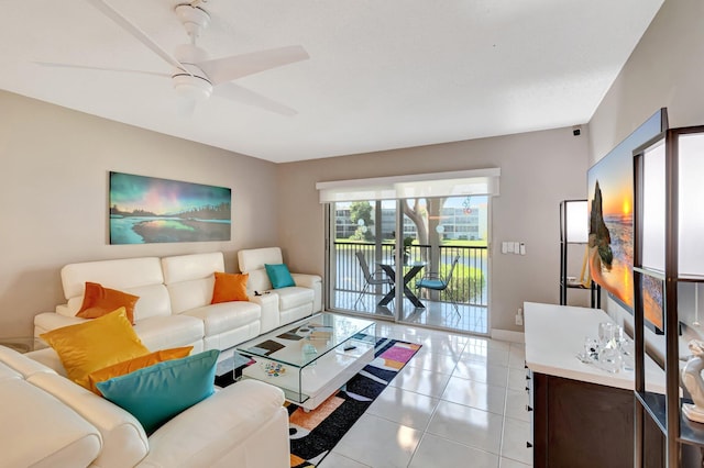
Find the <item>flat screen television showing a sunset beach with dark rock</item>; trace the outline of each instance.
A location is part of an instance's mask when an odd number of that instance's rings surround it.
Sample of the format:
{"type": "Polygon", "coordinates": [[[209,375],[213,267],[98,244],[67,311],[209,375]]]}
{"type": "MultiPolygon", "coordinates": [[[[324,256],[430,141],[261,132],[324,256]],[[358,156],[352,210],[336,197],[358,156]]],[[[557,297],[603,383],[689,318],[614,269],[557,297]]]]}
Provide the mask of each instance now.
{"type": "MultiPolygon", "coordinates": [[[[667,109],[658,110],[587,171],[588,265],[592,280],[628,312],[634,310],[632,152],[668,129],[667,109]]],[[[662,310],[645,322],[662,332],[662,310]]]]}

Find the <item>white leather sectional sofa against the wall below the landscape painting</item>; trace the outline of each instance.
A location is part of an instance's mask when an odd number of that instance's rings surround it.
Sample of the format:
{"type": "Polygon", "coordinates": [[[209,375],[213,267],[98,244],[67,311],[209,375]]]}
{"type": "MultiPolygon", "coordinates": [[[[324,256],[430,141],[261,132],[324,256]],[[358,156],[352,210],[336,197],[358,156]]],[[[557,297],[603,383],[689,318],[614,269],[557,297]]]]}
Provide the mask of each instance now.
{"type": "Polygon", "coordinates": [[[271,289],[264,261],[280,264],[278,247],[241,250],[239,258],[240,268],[246,268],[242,272],[250,274],[250,301],[218,304],[210,302],[213,272],[224,271],[220,252],[66,265],[61,275],[67,302],[34,317],[34,336],[86,320],[76,313],[87,281],[140,297],[134,331],[152,350],[177,346],[194,346],[193,353],[222,350],[322,309],[321,278],[316,275],[293,274],[296,287],[254,296],[271,289]]]}

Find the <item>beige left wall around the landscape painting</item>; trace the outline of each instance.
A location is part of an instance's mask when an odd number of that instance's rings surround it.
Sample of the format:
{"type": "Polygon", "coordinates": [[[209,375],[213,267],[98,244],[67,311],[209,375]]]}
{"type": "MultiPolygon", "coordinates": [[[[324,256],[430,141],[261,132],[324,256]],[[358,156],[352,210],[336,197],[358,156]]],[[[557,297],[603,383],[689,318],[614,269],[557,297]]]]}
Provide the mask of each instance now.
{"type": "Polygon", "coordinates": [[[221,250],[277,243],[276,165],[0,91],[0,336],[33,332],[64,302],[74,261],[221,250]],[[232,189],[230,242],[109,245],[110,170],[232,189]]]}

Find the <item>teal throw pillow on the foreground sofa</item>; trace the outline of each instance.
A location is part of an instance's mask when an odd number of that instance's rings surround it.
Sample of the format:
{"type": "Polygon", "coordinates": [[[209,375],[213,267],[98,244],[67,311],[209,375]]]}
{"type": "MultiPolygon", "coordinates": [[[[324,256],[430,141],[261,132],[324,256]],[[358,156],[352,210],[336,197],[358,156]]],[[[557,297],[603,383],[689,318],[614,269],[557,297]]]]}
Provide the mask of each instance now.
{"type": "Polygon", "coordinates": [[[98,382],[105,398],[130,412],[152,434],[182,411],[210,397],[218,349],[144,367],[98,382]]]}

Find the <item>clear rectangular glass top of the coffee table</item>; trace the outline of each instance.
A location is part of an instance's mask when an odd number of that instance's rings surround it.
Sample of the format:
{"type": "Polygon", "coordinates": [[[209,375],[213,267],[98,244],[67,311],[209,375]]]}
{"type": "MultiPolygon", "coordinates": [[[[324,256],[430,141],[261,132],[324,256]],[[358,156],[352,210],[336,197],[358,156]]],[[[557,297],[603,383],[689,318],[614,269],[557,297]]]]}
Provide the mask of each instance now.
{"type": "Polygon", "coordinates": [[[301,368],[358,334],[373,335],[374,322],[320,313],[245,342],[237,352],[301,368]]]}

